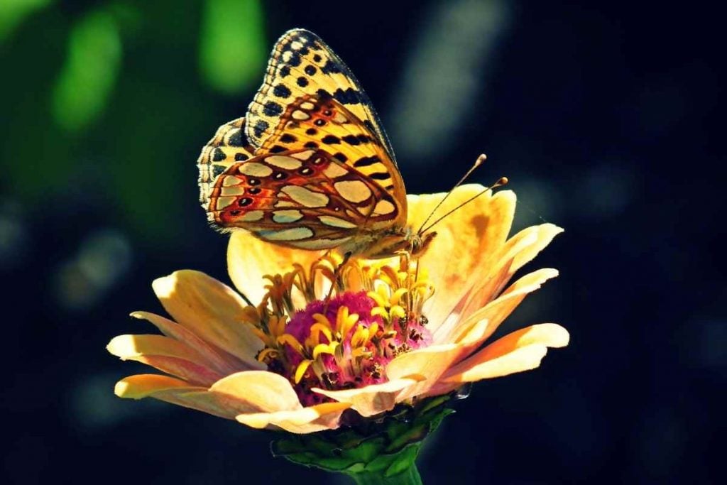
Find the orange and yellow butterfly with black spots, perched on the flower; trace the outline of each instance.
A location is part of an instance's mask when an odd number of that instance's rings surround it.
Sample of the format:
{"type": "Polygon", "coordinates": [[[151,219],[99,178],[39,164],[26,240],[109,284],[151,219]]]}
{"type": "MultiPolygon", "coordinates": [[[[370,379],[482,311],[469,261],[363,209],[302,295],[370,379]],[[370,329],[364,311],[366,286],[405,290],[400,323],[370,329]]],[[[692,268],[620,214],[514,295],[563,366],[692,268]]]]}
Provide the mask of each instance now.
{"type": "Polygon", "coordinates": [[[421,253],[435,233],[406,225],[406,190],[376,111],[316,34],[287,31],[245,118],[202,149],[200,202],[220,231],[361,257],[421,253]]]}

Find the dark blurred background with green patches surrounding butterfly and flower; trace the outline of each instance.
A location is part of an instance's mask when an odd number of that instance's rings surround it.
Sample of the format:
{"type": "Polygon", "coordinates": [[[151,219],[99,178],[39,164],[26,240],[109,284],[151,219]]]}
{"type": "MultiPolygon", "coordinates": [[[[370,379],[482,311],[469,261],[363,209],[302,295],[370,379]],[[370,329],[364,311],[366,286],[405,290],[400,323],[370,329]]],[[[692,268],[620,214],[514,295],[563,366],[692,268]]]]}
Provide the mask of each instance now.
{"type": "Polygon", "coordinates": [[[419,459],[426,483],[716,481],[727,326],[723,17],[699,2],[0,3],[5,483],[337,482],[270,435],[113,396],[142,366],[153,278],[228,281],[195,161],[242,116],[275,39],[318,33],[369,93],[410,193],[510,177],[517,228],[566,228],[561,276],[508,329],[571,332],[479,382],[419,459]],[[347,5],[344,5],[347,4],[347,5]],[[327,482],[326,482],[327,481],[327,482]]]}

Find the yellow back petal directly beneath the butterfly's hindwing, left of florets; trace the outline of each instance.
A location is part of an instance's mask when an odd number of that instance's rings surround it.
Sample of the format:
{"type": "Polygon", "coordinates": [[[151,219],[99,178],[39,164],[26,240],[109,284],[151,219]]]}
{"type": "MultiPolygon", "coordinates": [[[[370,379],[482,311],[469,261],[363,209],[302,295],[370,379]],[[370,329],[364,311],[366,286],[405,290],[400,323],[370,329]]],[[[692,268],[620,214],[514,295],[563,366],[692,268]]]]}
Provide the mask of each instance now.
{"type": "Polygon", "coordinates": [[[267,292],[263,276],[287,273],[294,262],[310,268],[322,254],[260,241],[247,231],[233,231],[228,244],[228,272],[236,288],[257,305],[267,292]]]}

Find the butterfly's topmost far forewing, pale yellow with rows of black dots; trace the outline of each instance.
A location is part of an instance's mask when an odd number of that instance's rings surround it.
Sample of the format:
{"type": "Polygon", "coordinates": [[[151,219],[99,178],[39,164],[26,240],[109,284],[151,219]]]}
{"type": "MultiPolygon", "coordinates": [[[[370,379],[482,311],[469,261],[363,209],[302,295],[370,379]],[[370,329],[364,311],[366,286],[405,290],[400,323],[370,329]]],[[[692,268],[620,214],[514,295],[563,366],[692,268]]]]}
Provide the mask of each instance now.
{"type": "Polygon", "coordinates": [[[389,140],[361,84],[324,41],[303,29],[284,33],[273,48],[265,80],[247,111],[246,134],[252,144],[274,148],[280,135],[276,127],[286,108],[308,95],[336,100],[347,108],[377,138],[395,167],[389,140]]]}

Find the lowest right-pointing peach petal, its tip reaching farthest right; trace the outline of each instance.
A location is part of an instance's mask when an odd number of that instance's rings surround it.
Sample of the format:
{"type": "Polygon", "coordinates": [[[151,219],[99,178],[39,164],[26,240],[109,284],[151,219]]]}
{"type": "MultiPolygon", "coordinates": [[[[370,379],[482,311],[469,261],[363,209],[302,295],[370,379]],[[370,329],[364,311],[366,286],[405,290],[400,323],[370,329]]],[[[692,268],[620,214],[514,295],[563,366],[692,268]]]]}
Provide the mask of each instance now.
{"type": "Polygon", "coordinates": [[[444,380],[461,383],[534,369],[548,347],[565,347],[569,333],[558,324],[526,327],[488,345],[452,367],[444,380]]]}

